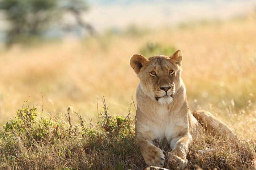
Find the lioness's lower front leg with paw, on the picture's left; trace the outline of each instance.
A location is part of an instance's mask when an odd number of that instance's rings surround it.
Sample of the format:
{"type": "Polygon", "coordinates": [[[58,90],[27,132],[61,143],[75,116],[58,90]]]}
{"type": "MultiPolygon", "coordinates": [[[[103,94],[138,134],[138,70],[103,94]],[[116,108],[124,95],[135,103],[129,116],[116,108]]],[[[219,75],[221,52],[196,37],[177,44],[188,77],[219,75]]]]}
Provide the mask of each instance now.
{"type": "Polygon", "coordinates": [[[165,160],[163,150],[156,147],[151,140],[137,139],[137,144],[147,165],[163,167],[165,160]]]}

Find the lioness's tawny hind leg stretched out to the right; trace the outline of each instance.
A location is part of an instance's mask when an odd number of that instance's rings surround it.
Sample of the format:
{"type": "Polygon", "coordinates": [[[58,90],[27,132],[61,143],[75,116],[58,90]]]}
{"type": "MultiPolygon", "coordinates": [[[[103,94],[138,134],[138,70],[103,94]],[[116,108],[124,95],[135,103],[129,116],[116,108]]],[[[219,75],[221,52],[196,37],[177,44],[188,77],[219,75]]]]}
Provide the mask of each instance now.
{"type": "Polygon", "coordinates": [[[210,112],[199,110],[192,112],[192,114],[207,133],[213,136],[229,136],[232,142],[237,140],[236,134],[224,122],[214,117],[210,112]]]}

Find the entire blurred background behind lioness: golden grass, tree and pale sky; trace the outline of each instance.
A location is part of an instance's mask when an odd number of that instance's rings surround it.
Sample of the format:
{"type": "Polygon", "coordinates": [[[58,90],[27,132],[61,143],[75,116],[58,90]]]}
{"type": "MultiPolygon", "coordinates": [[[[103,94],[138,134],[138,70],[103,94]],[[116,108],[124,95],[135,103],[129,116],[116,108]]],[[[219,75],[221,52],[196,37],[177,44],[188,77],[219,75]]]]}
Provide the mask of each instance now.
{"type": "Polygon", "coordinates": [[[177,49],[190,109],[255,136],[255,0],[0,0],[0,123],[28,98],[89,121],[104,96],[126,116],[139,82],[130,56],[177,49]]]}

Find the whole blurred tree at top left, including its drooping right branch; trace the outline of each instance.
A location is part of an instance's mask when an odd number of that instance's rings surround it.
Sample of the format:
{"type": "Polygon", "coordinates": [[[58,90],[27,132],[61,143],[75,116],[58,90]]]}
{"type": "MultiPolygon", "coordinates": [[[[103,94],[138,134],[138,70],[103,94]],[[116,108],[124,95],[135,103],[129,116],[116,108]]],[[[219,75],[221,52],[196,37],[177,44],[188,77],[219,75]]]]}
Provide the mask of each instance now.
{"type": "Polygon", "coordinates": [[[10,22],[6,45],[41,36],[51,21],[61,22],[57,18],[65,13],[71,13],[77,25],[93,35],[93,27],[81,17],[88,9],[86,0],[0,0],[0,10],[5,12],[6,19],[10,22]]]}

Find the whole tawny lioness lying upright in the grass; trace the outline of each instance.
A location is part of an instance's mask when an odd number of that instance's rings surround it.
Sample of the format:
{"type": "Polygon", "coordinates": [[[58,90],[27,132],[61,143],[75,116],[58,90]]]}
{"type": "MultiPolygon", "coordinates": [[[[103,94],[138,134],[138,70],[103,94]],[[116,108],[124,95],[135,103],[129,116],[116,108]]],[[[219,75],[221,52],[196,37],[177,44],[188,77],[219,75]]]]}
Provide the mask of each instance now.
{"type": "Polygon", "coordinates": [[[203,131],[229,135],[231,140],[236,138],[211,113],[189,110],[180,77],[181,61],[181,50],[171,57],[156,55],[147,59],[134,54],[130,58],[130,65],[140,79],[136,92],[136,143],[147,165],[164,166],[165,155],[153,144],[155,139],[168,142],[172,149],[167,153],[168,161],[184,169],[188,164],[188,145],[203,131]]]}

